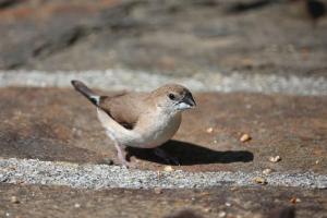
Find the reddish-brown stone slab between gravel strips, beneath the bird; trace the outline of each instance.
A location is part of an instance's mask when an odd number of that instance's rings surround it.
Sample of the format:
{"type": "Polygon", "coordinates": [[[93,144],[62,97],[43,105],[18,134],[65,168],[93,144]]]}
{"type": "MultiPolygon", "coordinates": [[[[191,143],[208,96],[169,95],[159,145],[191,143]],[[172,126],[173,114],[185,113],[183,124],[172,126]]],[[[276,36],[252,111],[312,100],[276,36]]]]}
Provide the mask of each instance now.
{"type": "MultiPolygon", "coordinates": [[[[261,94],[196,93],[164,148],[187,171],[326,174],[327,99],[261,94]],[[211,130],[210,130],[211,129],[211,130]],[[243,133],[252,140],[241,143],[243,133]],[[270,162],[269,157],[281,161],[270,162]]],[[[0,156],[72,162],[116,160],[95,108],[72,89],[1,88],[0,156]]],[[[130,150],[140,169],[162,168],[152,150],[130,150]]]]}

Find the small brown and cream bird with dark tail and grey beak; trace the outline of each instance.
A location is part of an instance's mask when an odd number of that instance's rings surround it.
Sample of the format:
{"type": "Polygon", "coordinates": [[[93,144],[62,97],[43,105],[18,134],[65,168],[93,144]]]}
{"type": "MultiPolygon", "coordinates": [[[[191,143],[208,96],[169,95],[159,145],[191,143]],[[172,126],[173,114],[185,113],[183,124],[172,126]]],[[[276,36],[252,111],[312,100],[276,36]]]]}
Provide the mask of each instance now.
{"type": "Polygon", "coordinates": [[[159,146],[178,131],[182,112],[196,107],[192,93],[179,84],[166,84],[148,93],[123,92],[98,95],[83,82],[71,81],[73,87],[97,108],[97,117],[113,141],[118,159],[125,167],[126,147],[155,148],[155,154],[179,165],[159,146]]]}

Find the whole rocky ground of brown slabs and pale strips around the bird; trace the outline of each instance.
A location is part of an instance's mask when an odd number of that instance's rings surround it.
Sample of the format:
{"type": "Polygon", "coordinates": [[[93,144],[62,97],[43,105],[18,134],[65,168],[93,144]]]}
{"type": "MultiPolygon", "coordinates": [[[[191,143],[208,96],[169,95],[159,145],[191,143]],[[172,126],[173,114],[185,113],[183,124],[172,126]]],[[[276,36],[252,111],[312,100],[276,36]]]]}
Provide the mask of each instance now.
{"type": "Polygon", "coordinates": [[[301,1],[0,0],[0,16],[1,217],[326,217],[327,20],[301,1]],[[190,87],[164,145],[181,165],[114,166],[72,78],[190,87]]]}

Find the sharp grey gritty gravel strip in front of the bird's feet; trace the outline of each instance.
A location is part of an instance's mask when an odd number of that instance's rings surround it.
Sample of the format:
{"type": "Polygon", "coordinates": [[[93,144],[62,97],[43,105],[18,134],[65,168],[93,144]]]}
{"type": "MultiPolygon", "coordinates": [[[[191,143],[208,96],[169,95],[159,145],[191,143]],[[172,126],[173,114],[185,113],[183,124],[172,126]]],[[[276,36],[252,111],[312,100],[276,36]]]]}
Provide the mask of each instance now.
{"type": "Polygon", "coordinates": [[[13,184],[68,185],[78,189],[202,189],[219,185],[252,186],[254,179],[265,178],[266,185],[327,189],[327,175],[313,172],[167,172],[126,169],[107,165],[77,165],[35,159],[0,159],[0,182],[13,184]]]}

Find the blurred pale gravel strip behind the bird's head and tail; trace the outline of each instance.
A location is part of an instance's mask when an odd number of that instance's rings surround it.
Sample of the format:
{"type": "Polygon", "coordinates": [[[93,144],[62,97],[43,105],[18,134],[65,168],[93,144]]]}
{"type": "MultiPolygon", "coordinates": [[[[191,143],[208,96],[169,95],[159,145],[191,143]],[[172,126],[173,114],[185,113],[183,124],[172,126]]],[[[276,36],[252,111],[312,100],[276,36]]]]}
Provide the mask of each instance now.
{"type": "Polygon", "coordinates": [[[326,77],[280,76],[244,74],[234,72],[229,75],[199,73],[189,77],[174,77],[149,72],[131,70],[106,71],[0,71],[0,87],[71,87],[71,80],[82,80],[89,86],[102,89],[150,90],[165,83],[181,83],[194,92],[251,92],[289,95],[327,95],[326,77]]]}

